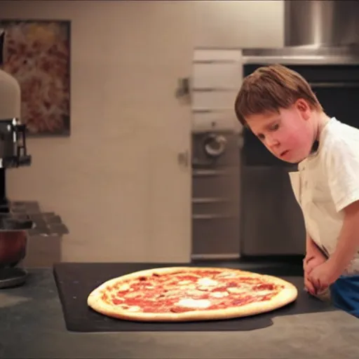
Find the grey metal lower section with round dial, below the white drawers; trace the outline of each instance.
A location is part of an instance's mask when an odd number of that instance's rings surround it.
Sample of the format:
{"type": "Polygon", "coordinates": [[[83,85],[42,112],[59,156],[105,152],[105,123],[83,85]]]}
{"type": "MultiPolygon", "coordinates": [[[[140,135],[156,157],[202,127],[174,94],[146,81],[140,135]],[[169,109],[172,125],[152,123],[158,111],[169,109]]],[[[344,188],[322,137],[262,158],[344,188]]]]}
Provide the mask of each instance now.
{"type": "MultiPolygon", "coordinates": [[[[212,137],[210,137],[212,138],[212,137]]],[[[192,134],[192,252],[193,259],[239,257],[238,134],[192,134]],[[209,136],[225,139],[222,151],[210,151],[209,136]]]]}

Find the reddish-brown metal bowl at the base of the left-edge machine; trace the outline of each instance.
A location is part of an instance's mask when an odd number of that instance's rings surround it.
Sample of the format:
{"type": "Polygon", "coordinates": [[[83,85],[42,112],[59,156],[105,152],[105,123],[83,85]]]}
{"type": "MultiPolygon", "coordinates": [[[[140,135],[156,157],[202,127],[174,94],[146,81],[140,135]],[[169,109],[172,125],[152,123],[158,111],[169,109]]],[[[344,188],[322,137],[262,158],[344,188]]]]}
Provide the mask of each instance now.
{"type": "Polygon", "coordinates": [[[0,230],[0,268],[15,266],[24,259],[27,246],[27,229],[33,227],[31,221],[18,222],[3,220],[0,230]]]}

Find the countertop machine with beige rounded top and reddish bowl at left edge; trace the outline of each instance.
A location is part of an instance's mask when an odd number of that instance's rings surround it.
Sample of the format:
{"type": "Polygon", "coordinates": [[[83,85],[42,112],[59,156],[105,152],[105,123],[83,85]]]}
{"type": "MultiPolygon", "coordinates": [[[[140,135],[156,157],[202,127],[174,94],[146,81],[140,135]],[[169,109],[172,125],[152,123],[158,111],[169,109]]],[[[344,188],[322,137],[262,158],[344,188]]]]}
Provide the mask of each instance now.
{"type": "Polygon", "coordinates": [[[0,70],[0,288],[22,284],[27,272],[16,265],[25,257],[27,230],[34,223],[12,210],[6,196],[6,170],[30,165],[26,126],[20,123],[20,85],[0,70]]]}

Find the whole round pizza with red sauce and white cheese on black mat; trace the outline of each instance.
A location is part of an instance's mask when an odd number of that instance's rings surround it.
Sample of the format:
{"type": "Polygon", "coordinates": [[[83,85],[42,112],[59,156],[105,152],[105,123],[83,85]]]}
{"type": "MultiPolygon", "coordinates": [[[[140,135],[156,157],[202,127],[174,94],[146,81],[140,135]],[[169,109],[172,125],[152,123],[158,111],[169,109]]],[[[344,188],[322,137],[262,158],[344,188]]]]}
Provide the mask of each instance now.
{"type": "Polygon", "coordinates": [[[135,321],[221,320],[273,311],[297,299],[297,287],[240,269],[163,267],[112,278],[88,295],[90,309],[135,321]]]}

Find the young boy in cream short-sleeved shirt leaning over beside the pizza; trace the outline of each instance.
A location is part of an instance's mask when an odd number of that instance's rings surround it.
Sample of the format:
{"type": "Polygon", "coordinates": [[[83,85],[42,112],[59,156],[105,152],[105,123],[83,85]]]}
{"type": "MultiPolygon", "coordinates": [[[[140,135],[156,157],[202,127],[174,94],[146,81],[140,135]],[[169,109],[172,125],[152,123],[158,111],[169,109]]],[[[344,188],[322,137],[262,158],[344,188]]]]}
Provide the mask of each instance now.
{"type": "Polygon", "coordinates": [[[359,130],[325,114],[309,83],[282,65],[247,76],[235,111],[290,173],[306,226],[304,285],[359,318],[359,130]]]}

